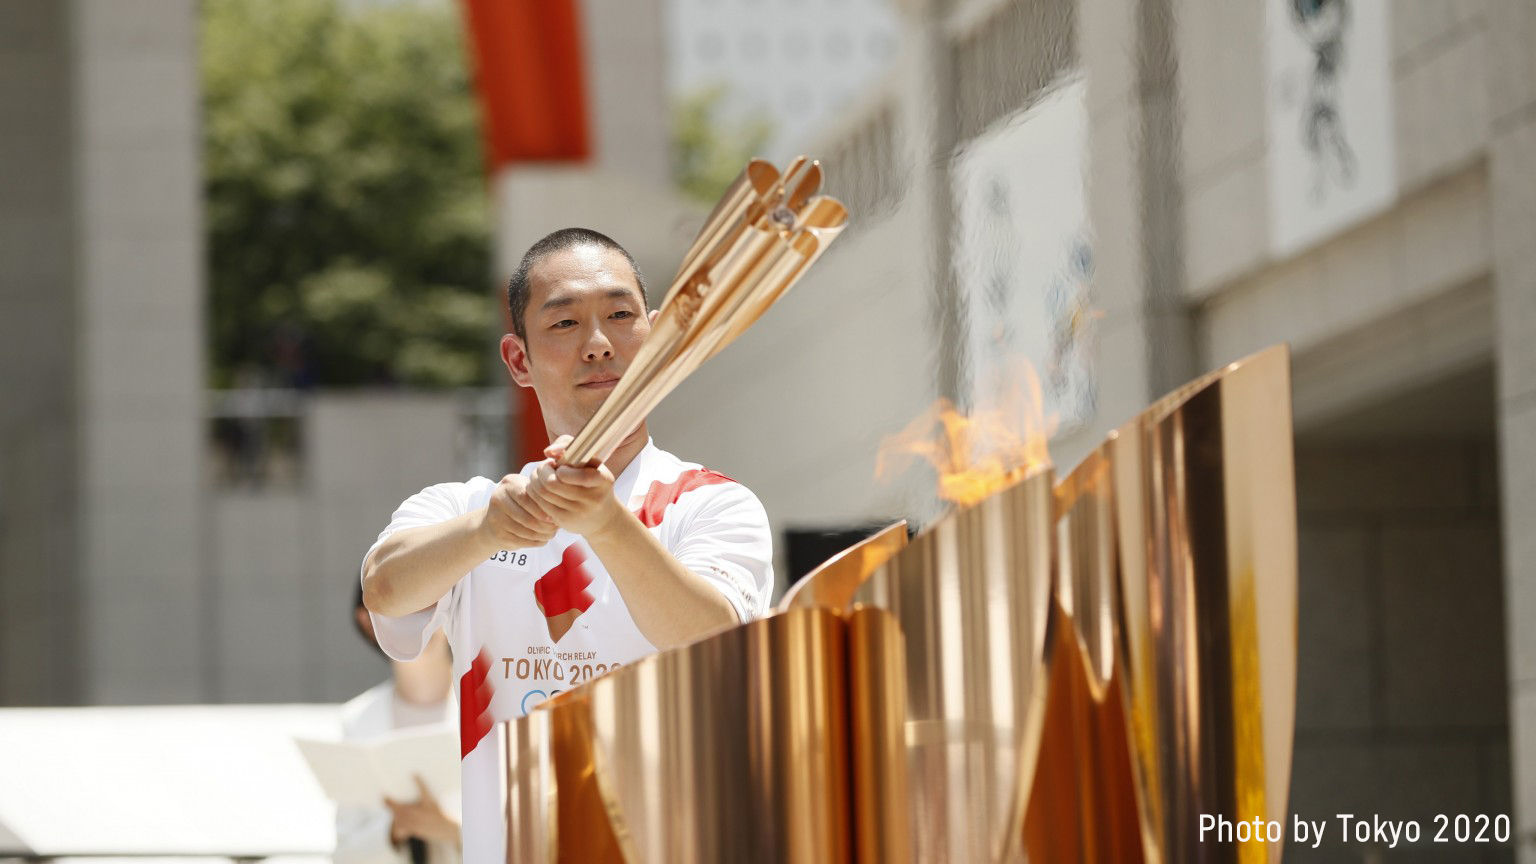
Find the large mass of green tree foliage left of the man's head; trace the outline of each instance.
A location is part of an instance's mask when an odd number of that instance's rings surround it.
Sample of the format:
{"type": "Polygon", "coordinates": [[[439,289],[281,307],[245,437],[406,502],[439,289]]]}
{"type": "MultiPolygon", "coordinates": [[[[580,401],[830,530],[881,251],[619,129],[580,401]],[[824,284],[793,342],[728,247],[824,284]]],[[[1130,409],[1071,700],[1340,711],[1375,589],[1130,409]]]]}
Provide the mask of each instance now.
{"type": "Polygon", "coordinates": [[[455,5],[203,0],[203,109],[214,386],[485,380],[498,304],[455,5]]]}

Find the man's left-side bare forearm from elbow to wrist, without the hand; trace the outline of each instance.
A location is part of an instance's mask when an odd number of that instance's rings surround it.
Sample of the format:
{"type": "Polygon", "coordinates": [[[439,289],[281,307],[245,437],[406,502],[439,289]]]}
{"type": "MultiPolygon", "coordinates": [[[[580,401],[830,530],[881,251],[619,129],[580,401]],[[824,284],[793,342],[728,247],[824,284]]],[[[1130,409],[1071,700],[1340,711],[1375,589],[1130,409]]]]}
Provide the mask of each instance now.
{"type": "Polygon", "coordinates": [[[399,618],[441,600],[495,552],[495,540],[481,529],[484,517],[481,507],[392,533],[362,564],[362,604],[376,615],[399,618]]]}

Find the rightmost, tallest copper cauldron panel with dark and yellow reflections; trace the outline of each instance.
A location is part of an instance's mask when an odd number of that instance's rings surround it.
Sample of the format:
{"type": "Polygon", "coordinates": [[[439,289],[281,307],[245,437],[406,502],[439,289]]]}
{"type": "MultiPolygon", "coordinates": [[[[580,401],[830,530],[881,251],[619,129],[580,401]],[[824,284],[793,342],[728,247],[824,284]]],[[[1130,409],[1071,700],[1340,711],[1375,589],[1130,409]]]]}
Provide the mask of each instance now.
{"type": "Polygon", "coordinates": [[[1279,859],[1279,844],[1201,842],[1198,822],[1286,819],[1290,429],[1275,347],[1160,400],[1058,486],[1055,612],[1072,638],[1051,672],[1034,858],[1279,859]]]}

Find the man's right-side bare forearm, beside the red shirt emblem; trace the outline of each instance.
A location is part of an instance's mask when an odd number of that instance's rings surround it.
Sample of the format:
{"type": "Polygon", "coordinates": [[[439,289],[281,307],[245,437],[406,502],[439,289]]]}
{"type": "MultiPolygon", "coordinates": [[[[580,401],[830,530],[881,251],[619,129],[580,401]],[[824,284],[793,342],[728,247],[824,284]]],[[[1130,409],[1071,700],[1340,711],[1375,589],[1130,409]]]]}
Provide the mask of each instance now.
{"type": "Polygon", "coordinates": [[[673,558],[634,513],[625,510],[585,540],[624,595],[634,626],[657,649],[739,621],[731,601],[673,558]]]}

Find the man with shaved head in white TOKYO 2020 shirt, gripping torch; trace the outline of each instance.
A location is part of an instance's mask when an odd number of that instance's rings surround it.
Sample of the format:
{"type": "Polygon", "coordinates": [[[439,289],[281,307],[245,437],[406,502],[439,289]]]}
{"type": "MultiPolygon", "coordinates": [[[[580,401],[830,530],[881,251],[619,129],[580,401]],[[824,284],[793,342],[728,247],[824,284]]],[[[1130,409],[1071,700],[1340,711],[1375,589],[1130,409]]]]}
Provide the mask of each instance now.
{"type": "MultiPolygon", "coordinates": [[[[379,646],[453,643],[464,853],[505,858],[495,723],[617,666],[766,610],[773,535],[757,497],[657,447],[642,421],[604,464],[559,466],[651,332],[645,281],[611,238],[564,229],[507,287],[501,355],[539,400],[551,444],[499,481],[429,486],[362,561],[379,646]]],[[[708,418],[700,418],[708,421],[708,418]]]]}

